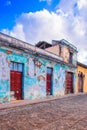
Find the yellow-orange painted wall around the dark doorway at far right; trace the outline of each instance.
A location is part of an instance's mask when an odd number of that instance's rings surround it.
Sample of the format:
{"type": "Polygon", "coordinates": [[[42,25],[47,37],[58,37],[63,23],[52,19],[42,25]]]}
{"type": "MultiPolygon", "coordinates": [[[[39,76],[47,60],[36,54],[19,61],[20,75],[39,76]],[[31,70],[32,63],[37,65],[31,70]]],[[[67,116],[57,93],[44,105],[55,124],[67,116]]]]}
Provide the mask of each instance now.
{"type": "Polygon", "coordinates": [[[76,83],[76,92],[78,93],[78,73],[82,72],[84,75],[85,75],[85,78],[84,78],[84,86],[83,86],[83,92],[87,92],[87,68],[81,66],[81,65],[78,65],[77,66],[77,83],[76,83]]]}

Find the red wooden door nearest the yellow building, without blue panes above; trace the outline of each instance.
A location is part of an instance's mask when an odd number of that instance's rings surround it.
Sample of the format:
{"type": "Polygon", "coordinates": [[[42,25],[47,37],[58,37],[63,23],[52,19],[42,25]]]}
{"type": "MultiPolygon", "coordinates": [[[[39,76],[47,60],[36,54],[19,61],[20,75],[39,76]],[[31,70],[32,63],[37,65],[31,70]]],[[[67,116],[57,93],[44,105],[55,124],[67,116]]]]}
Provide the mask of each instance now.
{"type": "Polygon", "coordinates": [[[66,73],[66,93],[73,93],[73,73],[66,73]]]}

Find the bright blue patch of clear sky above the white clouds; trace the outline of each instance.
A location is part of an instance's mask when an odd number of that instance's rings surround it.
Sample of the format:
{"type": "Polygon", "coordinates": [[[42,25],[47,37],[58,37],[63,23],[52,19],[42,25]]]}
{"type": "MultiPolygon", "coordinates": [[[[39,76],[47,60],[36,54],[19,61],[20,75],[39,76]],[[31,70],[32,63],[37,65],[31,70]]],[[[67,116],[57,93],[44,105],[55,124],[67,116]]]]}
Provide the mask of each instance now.
{"type": "Polygon", "coordinates": [[[58,3],[58,0],[52,1],[51,4],[44,0],[0,0],[0,29],[12,29],[22,13],[40,11],[44,8],[55,11],[58,3]]]}

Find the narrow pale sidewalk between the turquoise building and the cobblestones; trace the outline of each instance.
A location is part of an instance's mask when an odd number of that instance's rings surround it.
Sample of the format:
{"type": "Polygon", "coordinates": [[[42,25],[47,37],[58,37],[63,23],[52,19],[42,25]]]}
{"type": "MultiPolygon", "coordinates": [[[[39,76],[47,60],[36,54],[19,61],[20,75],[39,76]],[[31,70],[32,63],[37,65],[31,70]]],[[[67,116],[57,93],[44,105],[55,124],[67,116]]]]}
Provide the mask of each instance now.
{"type": "Polygon", "coordinates": [[[0,104],[0,110],[4,109],[9,109],[9,108],[14,108],[14,107],[21,107],[24,105],[32,105],[32,104],[38,104],[38,103],[43,103],[47,101],[53,101],[53,100],[58,100],[62,98],[68,98],[68,97],[73,97],[73,96],[80,96],[80,95],[86,95],[87,93],[78,93],[78,94],[68,94],[64,96],[49,96],[43,99],[35,99],[35,100],[14,100],[9,103],[2,103],[0,104]]]}

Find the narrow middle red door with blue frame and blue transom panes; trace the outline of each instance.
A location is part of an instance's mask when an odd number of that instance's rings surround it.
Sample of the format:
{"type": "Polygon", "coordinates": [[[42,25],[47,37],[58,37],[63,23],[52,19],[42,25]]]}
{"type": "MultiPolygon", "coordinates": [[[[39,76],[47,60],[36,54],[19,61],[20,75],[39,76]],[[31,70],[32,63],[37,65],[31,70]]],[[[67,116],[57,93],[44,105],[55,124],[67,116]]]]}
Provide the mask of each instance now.
{"type": "Polygon", "coordinates": [[[47,68],[46,93],[52,95],[52,68],[47,68]]]}

